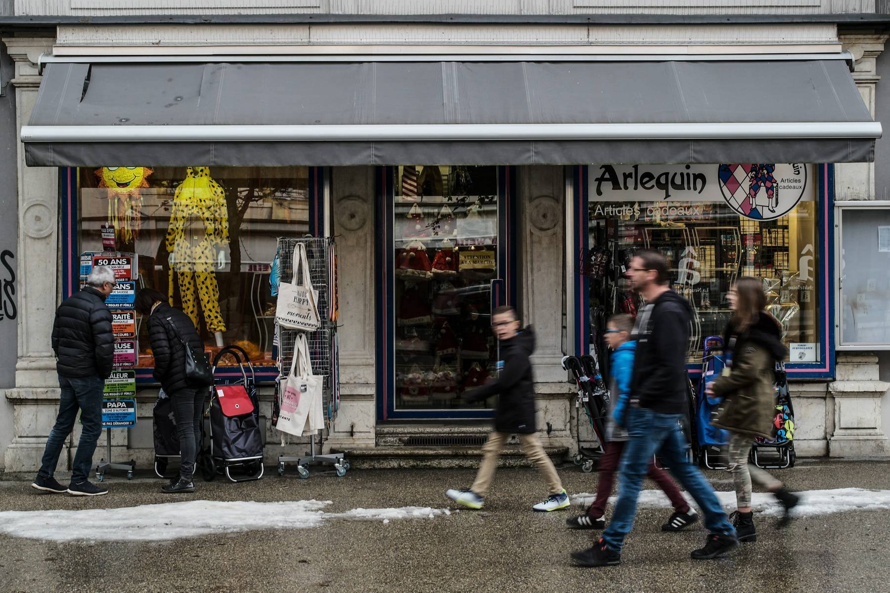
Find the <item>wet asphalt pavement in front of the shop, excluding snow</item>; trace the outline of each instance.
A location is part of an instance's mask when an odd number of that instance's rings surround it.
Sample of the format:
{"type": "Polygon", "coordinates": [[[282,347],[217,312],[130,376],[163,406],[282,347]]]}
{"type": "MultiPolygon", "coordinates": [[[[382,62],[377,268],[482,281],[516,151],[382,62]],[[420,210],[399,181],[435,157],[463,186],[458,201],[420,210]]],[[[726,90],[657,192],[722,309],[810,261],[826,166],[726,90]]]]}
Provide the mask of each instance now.
{"type": "MultiPolygon", "coordinates": [[[[729,557],[693,561],[706,532],[663,533],[669,509],[641,509],[622,564],[589,569],[569,552],[591,532],[570,531],[578,507],[534,513],[546,486],[534,469],[501,469],[485,508],[462,510],[447,488],[469,485],[472,469],[353,469],[336,477],[312,469],[267,474],[259,482],[198,481],[198,492],[159,492],[159,479],[110,476],[94,498],[39,494],[30,476],[0,476],[0,510],[101,509],[160,502],[332,501],[326,512],[406,506],[450,508],[434,518],[332,519],[306,529],[259,529],[173,541],[41,541],[0,535],[2,591],[890,591],[890,521],[886,510],[831,512],[795,519],[783,530],[756,517],[758,541],[729,557]]],[[[595,491],[595,474],[560,469],[569,493],[595,491]]],[[[731,491],[723,471],[706,474],[731,491]]],[[[775,475],[794,490],[860,487],[890,490],[885,461],[798,460],[775,475]]],[[[59,476],[65,477],[64,474],[59,476]]],[[[647,483],[647,487],[652,487],[647,483]]],[[[756,490],[756,489],[755,489],[756,490]]],[[[608,517],[607,511],[607,517],[608,517]]],[[[219,517],[224,521],[224,517],[219,517]]],[[[65,530],[66,525],[58,525],[65,530]]]]}

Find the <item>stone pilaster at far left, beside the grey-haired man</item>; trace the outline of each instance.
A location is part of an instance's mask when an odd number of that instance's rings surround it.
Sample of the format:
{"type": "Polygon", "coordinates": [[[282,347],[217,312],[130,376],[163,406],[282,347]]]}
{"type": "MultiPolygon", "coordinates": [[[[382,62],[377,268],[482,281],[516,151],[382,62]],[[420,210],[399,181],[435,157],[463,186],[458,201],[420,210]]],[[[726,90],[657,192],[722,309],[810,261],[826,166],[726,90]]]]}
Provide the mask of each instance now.
{"type": "MultiPolygon", "coordinates": [[[[12,86],[16,125],[28,123],[40,88],[37,61],[53,48],[53,36],[5,37],[15,62],[12,86]]],[[[50,337],[59,291],[59,171],[27,167],[16,134],[19,200],[19,351],[15,388],[5,397],[14,406],[15,437],[6,449],[6,471],[36,471],[59,404],[59,383],[50,337]]],[[[67,467],[62,452],[60,469],[67,467]]]]}

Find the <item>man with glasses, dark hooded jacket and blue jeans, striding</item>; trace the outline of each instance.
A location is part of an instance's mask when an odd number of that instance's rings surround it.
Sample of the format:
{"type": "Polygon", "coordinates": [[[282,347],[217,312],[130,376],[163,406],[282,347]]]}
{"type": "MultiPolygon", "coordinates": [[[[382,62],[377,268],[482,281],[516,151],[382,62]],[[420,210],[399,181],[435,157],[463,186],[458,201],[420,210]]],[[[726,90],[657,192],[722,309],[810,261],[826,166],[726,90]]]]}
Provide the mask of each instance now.
{"type": "MultiPolygon", "coordinates": [[[[689,462],[689,443],[681,432],[688,409],[686,351],[692,308],[668,288],[667,260],[659,252],[641,251],[630,262],[627,278],[648,303],[635,325],[636,358],[625,416],[630,440],[621,461],[619,498],[609,525],[593,548],[572,552],[582,566],[618,565],[624,538],[634,525],[643,477],[655,453],[699,504],[708,541],[692,551],[696,559],[717,557],[739,545],[714,488],[689,462]]],[[[667,525],[666,525],[667,526],[667,525]]]]}

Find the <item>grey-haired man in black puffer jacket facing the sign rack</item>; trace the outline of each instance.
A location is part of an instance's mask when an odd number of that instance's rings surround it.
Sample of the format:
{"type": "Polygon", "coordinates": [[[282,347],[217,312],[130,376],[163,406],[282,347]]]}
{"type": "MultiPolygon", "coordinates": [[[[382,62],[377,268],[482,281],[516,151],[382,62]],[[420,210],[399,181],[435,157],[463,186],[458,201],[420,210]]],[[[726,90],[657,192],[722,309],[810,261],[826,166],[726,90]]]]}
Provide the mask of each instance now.
{"type": "Polygon", "coordinates": [[[86,478],[93,466],[96,441],[102,432],[102,391],[111,374],[114,357],[111,312],[105,306],[105,299],[114,286],[114,272],[105,266],[97,266],[90,272],[83,290],[72,294],[56,309],[53,351],[57,357],[61,396],[59,415],[46,439],[43,462],[31,484],[37,490],[68,492],[77,496],[108,493],[86,478]],[[53,473],[62,446],[77,421],[78,410],[83,431],[71,464],[71,483],[66,488],[53,478],[53,473]]]}

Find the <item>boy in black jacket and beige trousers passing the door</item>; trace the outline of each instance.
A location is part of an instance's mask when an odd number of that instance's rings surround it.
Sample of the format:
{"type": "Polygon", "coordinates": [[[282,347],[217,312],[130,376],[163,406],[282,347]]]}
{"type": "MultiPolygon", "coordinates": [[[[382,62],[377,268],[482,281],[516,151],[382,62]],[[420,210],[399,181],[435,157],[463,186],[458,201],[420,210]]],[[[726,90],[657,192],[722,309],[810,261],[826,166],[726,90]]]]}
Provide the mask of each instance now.
{"type": "Polygon", "coordinates": [[[470,488],[449,490],[445,493],[450,499],[470,509],[481,509],[482,498],[488,492],[491,478],[498,468],[498,456],[512,434],[519,434],[522,452],[544,473],[550,493],[545,501],[538,502],[532,509],[549,511],[569,506],[569,495],[562,488],[559,474],[553,461],[547,456],[535,432],[535,393],[534,378],[531,375],[529,357],[535,349],[535,334],[530,327],[520,331],[516,311],[511,307],[499,307],[491,315],[491,327],[500,341],[501,363],[498,378],[481,387],[467,391],[466,401],[481,401],[498,395],[495,407],[495,429],[482,448],[483,457],[476,474],[476,481],[470,488]]]}

